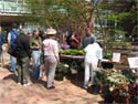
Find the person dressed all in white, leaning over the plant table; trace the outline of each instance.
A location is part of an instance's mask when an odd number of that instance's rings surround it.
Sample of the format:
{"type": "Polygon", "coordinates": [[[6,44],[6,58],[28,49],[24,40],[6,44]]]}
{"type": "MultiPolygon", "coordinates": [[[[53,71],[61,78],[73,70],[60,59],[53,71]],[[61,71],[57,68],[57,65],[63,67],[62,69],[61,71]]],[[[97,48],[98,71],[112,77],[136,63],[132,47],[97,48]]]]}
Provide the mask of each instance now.
{"type": "Polygon", "coordinates": [[[84,74],[84,89],[88,89],[91,77],[92,85],[95,85],[95,71],[97,70],[98,60],[103,59],[103,49],[97,42],[88,44],[84,51],[85,54],[85,74],[84,74]]]}

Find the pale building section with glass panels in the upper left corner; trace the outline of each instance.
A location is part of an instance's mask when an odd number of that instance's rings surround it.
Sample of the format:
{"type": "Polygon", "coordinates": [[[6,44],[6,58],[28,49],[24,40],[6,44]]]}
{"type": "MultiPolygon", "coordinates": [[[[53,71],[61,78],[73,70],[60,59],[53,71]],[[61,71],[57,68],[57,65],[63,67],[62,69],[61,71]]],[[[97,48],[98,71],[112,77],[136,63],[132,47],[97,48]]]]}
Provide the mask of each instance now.
{"type": "Polygon", "coordinates": [[[9,28],[12,22],[23,22],[23,14],[31,13],[24,0],[0,0],[0,25],[9,28]]]}

